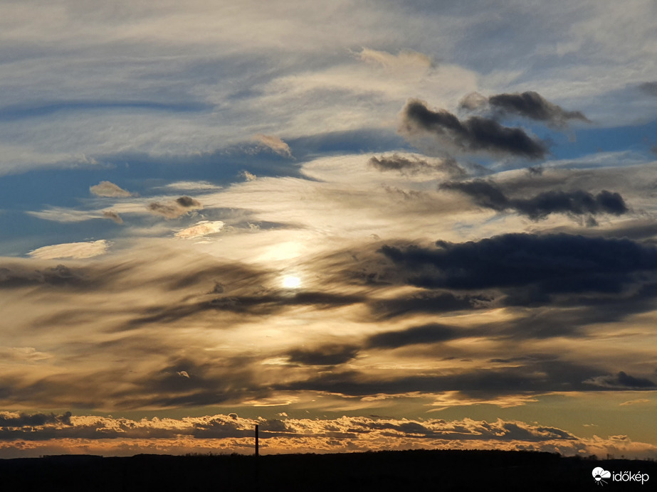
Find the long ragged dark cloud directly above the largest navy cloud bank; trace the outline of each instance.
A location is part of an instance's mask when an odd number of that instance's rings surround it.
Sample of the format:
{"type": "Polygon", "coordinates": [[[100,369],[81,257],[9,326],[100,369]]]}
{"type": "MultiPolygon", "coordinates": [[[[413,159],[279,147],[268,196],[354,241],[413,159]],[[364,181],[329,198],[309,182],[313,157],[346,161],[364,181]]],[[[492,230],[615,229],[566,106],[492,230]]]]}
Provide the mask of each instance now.
{"type": "Polygon", "coordinates": [[[574,190],[545,191],[531,198],[509,198],[500,186],[483,180],[450,181],[443,183],[441,189],[460,191],[473,198],[477,205],[498,211],[515,210],[532,220],[544,219],[551,213],[622,215],[628,212],[623,197],[606,190],[597,195],[574,190]]]}

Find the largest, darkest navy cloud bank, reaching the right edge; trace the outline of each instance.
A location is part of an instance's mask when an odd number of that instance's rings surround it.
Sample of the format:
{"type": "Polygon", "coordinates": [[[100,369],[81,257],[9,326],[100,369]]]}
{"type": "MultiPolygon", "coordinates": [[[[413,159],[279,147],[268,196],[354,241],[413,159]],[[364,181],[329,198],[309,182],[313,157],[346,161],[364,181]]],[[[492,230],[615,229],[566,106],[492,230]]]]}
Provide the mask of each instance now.
{"type": "Polygon", "coordinates": [[[506,234],[435,249],[384,246],[406,282],[449,289],[535,289],[538,294],[619,293],[635,274],[657,269],[657,249],[627,239],[506,234]]]}

